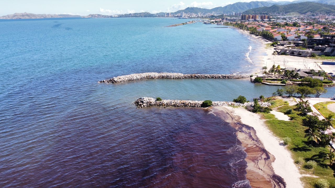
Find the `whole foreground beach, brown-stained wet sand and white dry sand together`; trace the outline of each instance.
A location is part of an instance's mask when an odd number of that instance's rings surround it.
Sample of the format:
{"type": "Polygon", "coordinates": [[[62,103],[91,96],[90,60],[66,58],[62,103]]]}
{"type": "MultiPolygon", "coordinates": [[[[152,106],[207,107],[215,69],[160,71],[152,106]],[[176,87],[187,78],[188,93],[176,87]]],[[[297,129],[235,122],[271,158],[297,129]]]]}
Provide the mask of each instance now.
{"type": "Polygon", "coordinates": [[[258,114],[243,108],[210,107],[211,113],[236,128],[237,138],[247,153],[247,179],[252,187],[303,188],[291,154],[274,136],[258,114]]]}

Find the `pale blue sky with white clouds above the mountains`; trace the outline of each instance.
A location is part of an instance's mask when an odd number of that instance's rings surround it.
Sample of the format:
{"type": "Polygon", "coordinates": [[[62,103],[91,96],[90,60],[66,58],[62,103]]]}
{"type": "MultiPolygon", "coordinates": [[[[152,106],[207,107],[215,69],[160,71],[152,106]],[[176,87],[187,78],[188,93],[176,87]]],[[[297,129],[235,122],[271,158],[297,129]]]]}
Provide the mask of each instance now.
{"type": "MultiPolygon", "coordinates": [[[[187,7],[214,8],[251,0],[0,0],[0,16],[14,13],[104,14],[175,12],[187,7]]],[[[261,1],[261,0],[259,0],[261,1]]],[[[275,0],[280,1],[280,0],[275,0]]]]}

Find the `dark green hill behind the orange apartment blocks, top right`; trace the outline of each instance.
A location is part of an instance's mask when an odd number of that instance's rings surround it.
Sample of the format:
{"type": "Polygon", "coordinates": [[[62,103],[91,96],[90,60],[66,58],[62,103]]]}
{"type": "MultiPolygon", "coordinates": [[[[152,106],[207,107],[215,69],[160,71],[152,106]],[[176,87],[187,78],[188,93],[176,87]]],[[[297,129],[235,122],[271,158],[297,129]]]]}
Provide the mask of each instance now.
{"type": "Polygon", "coordinates": [[[311,13],[333,13],[335,12],[334,5],[326,5],[315,2],[293,3],[288,5],[272,5],[270,7],[259,7],[247,10],[244,14],[287,14],[290,12],[298,12],[300,14],[311,13]]]}

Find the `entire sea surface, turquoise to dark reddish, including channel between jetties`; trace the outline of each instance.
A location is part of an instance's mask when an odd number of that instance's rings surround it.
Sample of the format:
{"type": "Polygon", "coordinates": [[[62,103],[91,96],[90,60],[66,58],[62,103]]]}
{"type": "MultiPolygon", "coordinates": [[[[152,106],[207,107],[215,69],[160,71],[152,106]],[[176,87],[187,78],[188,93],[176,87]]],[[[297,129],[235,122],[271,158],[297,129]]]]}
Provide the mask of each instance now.
{"type": "MultiPolygon", "coordinates": [[[[249,187],[235,130],[203,109],[140,97],[249,100],[248,80],[98,84],[141,72],[247,73],[255,41],[170,18],[0,21],[1,187],[249,187]]],[[[325,96],[333,96],[329,88],[325,96]]]]}

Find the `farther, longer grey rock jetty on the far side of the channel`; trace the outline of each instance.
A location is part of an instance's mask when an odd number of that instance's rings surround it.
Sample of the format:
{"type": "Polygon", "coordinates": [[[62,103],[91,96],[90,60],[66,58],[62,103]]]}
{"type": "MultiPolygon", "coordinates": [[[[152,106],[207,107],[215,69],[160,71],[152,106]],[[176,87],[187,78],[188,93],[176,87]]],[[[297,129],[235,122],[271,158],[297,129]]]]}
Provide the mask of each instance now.
{"type": "Polygon", "coordinates": [[[98,83],[119,83],[119,82],[130,82],[135,80],[143,79],[245,79],[249,78],[249,75],[238,75],[238,74],[182,74],[182,73],[138,73],[124,76],[114,77],[109,80],[102,80],[98,83]]]}

